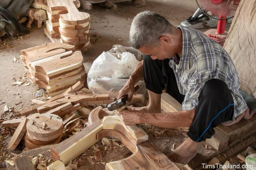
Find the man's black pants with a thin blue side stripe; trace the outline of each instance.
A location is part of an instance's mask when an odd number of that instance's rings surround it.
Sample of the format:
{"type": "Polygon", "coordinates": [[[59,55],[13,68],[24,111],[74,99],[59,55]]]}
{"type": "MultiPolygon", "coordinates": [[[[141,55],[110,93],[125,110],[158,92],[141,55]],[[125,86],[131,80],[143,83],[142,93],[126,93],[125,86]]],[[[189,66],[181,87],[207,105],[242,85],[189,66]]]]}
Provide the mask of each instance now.
{"type": "MultiPolygon", "coordinates": [[[[153,60],[145,55],[143,74],[146,88],[154,93],[166,93],[182,104],[184,95],[180,94],[169,59],[153,60]]],[[[195,117],[187,135],[196,142],[205,141],[215,133],[213,128],[222,122],[232,120],[234,101],[228,86],[223,80],[210,79],[204,83],[198,96],[199,103],[195,117]]],[[[180,120],[182,121],[182,120],[180,120]]]]}

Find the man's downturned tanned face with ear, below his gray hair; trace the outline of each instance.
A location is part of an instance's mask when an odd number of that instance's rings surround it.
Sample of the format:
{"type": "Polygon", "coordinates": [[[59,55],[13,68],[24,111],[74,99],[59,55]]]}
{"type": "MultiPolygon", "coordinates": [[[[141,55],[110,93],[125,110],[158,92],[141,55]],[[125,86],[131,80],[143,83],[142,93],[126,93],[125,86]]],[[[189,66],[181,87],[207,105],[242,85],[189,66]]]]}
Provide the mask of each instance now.
{"type": "Polygon", "coordinates": [[[144,55],[149,55],[153,60],[164,60],[171,58],[176,54],[176,48],[169,37],[162,37],[156,46],[139,48],[144,55]]]}

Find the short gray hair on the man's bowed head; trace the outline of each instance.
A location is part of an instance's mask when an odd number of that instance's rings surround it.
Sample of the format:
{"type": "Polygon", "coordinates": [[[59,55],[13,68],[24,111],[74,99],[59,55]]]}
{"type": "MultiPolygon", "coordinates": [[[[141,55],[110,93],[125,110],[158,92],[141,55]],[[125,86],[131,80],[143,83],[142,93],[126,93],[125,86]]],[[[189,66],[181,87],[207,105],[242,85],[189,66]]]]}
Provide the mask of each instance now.
{"type": "Polygon", "coordinates": [[[163,16],[150,11],[138,13],[130,28],[130,44],[139,49],[142,46],[152,47],[159,43],[163,34],[171,34],[173,25],[163,16]]]}

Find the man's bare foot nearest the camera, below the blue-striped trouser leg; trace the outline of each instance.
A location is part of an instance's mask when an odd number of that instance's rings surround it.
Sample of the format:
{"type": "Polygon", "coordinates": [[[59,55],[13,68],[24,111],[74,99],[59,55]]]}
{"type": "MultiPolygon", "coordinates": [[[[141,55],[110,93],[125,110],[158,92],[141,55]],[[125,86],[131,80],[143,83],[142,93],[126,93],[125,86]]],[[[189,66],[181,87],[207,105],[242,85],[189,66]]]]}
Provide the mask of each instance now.
{"type": "Polygon", "coordinates": [[[195,155],[197,155],[198,143],[187,138],[178,148],[168,155],[169,159],[175,163],[186,165],[195,155]]]}

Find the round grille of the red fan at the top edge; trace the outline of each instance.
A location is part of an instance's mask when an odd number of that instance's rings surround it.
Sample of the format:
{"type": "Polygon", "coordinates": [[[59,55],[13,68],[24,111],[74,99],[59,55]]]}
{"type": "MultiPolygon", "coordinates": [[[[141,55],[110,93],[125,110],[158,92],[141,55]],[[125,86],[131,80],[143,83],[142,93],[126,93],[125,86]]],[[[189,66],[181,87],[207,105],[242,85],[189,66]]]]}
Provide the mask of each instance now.
{"type": "Polygon", "coordinates": [[[219,4],[214,4],[211,0],[196,0],[196,2],[205,15],[214,19],[226,20],[235,15],[240,0],[223,0],[219,4]]]}

